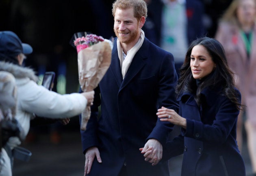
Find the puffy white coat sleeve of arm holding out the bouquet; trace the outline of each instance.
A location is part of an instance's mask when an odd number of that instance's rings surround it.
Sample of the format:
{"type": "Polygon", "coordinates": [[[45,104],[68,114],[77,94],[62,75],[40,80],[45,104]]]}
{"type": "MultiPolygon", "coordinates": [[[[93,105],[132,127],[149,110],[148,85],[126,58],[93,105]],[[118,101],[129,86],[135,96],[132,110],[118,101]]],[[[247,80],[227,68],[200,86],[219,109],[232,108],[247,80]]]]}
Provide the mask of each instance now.
{"type": "Polygon", "coordinates": [[[18,87],[18,95],[18,102],[24,111],[52,119],[74,117],[87,105],[86,98],[80,93],[61,95],[33,81],[18,87]]]}

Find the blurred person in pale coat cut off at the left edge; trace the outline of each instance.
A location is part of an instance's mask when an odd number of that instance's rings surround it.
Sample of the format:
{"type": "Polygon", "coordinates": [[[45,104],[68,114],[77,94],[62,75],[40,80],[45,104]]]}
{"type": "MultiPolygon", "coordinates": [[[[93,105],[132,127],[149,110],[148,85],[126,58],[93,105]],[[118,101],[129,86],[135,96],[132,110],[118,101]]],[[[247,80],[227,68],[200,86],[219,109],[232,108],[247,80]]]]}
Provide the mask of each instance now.
{"type": "Polygon", "coordinates": [[[17,87],[14,76],[0,71],[0,176],[11,176],[11,160],[8,157],[6,143],[10,137],[19,136],[21,132],[15,119],[17,87]]]}

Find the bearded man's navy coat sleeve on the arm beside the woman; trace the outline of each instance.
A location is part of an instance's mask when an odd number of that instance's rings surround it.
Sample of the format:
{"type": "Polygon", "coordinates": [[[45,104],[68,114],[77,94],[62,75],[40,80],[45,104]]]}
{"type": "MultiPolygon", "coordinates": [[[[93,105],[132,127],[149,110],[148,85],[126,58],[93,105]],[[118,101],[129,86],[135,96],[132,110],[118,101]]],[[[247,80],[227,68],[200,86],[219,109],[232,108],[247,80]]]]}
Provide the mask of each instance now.
{"type": "MultiPolygon", "coordinates": [[[[174,109],[178,112],[178,104],[176,102],[175,88],[177,85],[178,76],[174,68],[174,57],[171,53],[167,54],[161,63],[158,83],[158,108],[162,106],[170,109],[174,109]]],[[[154,127],[147,140],[154,138],[165,144],[169,133],[173,129],[173,124],[169,122],[162,122],[157,118],[156,126],[154,127]]]]}

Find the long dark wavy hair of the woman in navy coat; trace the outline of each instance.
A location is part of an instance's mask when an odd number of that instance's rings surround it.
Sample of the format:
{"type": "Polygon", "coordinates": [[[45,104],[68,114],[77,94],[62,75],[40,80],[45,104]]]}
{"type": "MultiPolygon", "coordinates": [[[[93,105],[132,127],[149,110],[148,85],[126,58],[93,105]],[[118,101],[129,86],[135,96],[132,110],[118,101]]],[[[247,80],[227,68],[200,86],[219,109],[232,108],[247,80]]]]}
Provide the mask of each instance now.
{"type": "Polygon", "coordinates": [[[192,92],[195,93],[195,101],[197,105],[201,104],[201,91],[206,87],[222,87],[221,92],[233,102],[238,109],[240,109],[241,104],[236,96],[234,89],[234,76],[233,72],[230,70],[227,64],[227,59],[225,51],[221,43],[214,38],[198,38],[194,40],[185,56],[185,61],[180,68],[180,78],[178,80],[178,85],[176,87],[176,93],[178,96],[182,92],[192,92]],[[206,48],[209,55],[213,59],[213,62],[216,64],[216,68],[211,74],[208,75],[207,79],[202,81],[201,84],[196,85],[196,80],[193,78],[190,60],[191,60],[191,51],[196,45],[202,45],[206,48]]]}

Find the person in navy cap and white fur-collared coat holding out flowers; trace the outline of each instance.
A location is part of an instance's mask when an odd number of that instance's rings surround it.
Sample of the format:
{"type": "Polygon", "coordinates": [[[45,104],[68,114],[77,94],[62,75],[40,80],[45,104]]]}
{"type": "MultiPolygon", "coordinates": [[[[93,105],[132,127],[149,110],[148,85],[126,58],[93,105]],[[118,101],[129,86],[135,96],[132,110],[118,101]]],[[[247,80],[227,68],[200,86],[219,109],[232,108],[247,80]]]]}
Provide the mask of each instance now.
{"type": "MultiPolygon", "coordinates": [[[[11,31],[0,32],[0,70],[10,72],[15,77],[17,85],[16,119],[20,123],[25,136],[30,128],[33,113],[39,117],[67,118],[79,115],[86,106],[91,106],[94,91],[61,95],[37,85],[35,72],[23,67],[26,54],[32,53],[30,45],[22,43],[20,38],[11,31]]],[[[20,145],[18,138],[10,138],[7,142],[9,155],[5,155],[3,167],[12,161],[12,150],[20,145]]],[[[11,168],[9,167],[9,170],[11,168]]],[[[1,173],[0,176],[7,176],[1,173]]]]}

